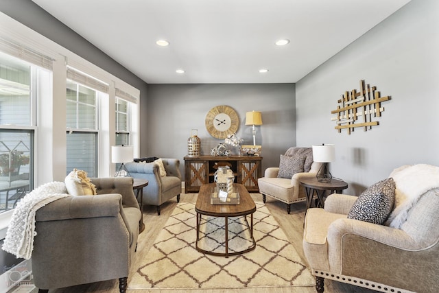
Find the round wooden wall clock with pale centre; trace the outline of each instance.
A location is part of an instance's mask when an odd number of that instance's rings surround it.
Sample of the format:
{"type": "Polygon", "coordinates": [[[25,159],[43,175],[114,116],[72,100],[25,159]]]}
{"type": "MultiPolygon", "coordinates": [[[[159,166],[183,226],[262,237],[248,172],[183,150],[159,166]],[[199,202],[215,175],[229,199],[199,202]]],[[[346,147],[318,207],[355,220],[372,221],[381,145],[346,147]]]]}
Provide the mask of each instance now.
{"type": "Polygon", "coordinates": [[[238,130],[239,117],[229,106],[215,106],[206,115],[206,129],[211,136],[225,139],[238,130]]]}

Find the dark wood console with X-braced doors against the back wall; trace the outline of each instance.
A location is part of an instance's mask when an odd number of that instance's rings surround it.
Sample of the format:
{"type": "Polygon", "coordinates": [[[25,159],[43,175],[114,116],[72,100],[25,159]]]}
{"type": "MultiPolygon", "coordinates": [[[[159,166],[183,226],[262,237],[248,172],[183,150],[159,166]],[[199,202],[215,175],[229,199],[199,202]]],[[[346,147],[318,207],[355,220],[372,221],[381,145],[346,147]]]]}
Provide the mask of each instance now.
{"type": "Polygon", "coordinates": [[[261,156],[185,156],[185,192],[198,192],[203,184],[213,183],[219,166],[229,166],[235,183],[249,192],[259,192],[258,178],[262,177],[261,156]]]}

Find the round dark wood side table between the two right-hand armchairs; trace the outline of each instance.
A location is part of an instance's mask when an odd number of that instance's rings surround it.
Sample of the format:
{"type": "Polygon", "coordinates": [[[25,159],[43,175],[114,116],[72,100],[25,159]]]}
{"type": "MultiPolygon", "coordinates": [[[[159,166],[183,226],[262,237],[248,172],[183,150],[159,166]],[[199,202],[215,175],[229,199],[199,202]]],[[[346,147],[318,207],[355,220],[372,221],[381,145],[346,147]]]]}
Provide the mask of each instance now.
{"type": "Polygon", "coordinates": [[[315,194],[318,197],[318,204],[316,204],[316,207],[323,207],[323,198],[326,196],[328,190],[336,192],[337,194],[342,194],[343,189],[348,188],[348,183],[334,178],[329,183],[319,182],[316,177],[301,178],[299,181],[305,187],[305,191],[307,191],[307,209],[311,207],[315,194]]]}

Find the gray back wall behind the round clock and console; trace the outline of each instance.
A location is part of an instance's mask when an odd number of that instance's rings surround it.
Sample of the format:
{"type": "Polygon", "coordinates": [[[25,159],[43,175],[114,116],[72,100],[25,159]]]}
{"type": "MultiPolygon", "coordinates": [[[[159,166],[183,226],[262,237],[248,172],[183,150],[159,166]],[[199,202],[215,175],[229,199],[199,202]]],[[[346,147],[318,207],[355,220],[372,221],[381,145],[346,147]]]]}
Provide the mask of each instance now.
{"type": "Polygon", "coordinates": [[[294,93],[294,84],[148,84],[145,155],[178,158],[183,165],[192,128],[198,129],[202,154],[210,154],[224,139],[211,137],[204,119],[214,106],[228,105],[239,115],[237,136],[244,144],[253,144],[246,112],[261,111],[263,125],[257,126],[256,144],[262,145],[263,169],[278,165],[279,155],[296,145],[294,93]]]}

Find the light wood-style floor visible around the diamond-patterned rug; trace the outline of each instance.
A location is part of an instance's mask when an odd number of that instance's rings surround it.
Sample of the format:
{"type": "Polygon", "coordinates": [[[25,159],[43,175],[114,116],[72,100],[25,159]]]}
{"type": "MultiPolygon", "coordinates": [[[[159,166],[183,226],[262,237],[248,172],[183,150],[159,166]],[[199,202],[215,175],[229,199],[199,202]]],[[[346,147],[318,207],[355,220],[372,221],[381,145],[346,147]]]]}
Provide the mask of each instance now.
{"type": "MultiPolygon", "coordinates": [[[[262,201],[261,194],[251,194],[254,201],[262,201]]],[[[197,194],[181,194],[180,202],[193,202],[196,201],[197,194]]],[[[145,223],[145,231],[139,235],[139,241],[137,245],[136,261],[141,261],[143,257],[150,250],[156,235],[164,226],[167,218],[171,215],[172,210],[176,206],[176,199],[171,200],[161,207],[161,215],[157,215],[156,208],[145,205],[143,207],[143,222],[145,223]]],[[[298,202],[292,204],[291,213],[287,214],[287,206],[277,200],[272,200],[267,197],[266,205],[274,218],[283,228],[283,231],[287,235],[289,241],[294,245],[300,257],[306,262],[305,255],[302,249],[302,234],[303,234],[303,220],[305,217],[305,202],[298,202]]],[[[130,274],[134,273],[134,268],[137,268],[137,263],[133,263],[130,274]]],[[[128,282],[130,276],[128,277],[128,282]]],[[[37,292],[34,290],[32,293],[37,292]]],[[[50,293],[78,293],[78,292],[119,292],[119,281],[103,281],[98,283],[91,283],[85,285],[78,285],[69,288],[62,288],[57,290],[50,290],[50,293]]],[[[301,287],[301,288],[252,288],[252,289],[224,289],[224,290],[129,290],[129,293],[141,293],[141,292],[154,292],[154,293],[312,293],[316,292],[313,287],[301,287]]],[[[359,293],[371,293],[373,290],[360,288],[354,285],[348,285],[339,283],[336,281],[325,280],[324,292],[327,293],[339,293],[339,292],[359,292],[359,293]]]]}

